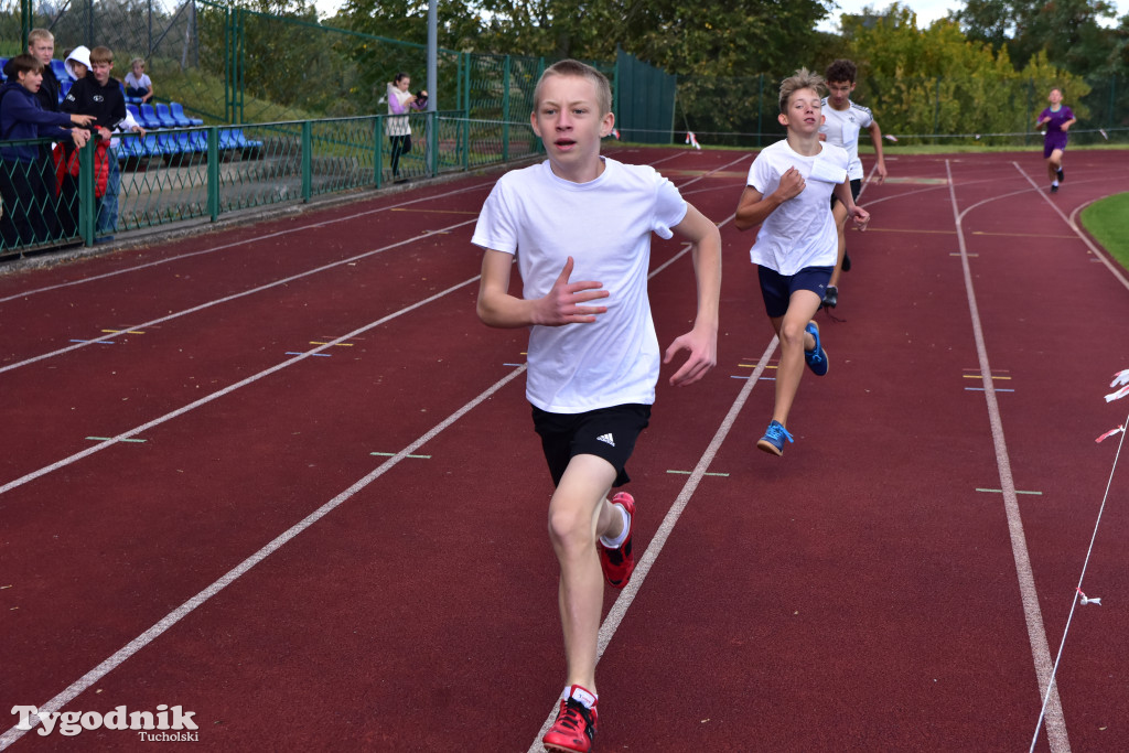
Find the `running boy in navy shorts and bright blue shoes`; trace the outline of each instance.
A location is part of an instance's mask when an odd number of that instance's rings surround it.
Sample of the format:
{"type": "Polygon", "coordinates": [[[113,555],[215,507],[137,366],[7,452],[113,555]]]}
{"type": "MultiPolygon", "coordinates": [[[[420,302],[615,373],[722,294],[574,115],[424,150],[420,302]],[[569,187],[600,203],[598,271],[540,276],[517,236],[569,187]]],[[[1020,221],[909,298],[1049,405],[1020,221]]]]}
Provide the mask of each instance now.
{"type": "Polygon", "coordinates": [[[828,353],[812,317],[838,254],[832,192],[860,229],[870,221],[850,192],[849,155],[820,141],[822,86],[823,78],[806,68],[780,84],[779,121],[788,129],[788,138],[753,160],[734,221],[739,230],[761,226],[750,256],[758,265],[765,312],[780,338],[776,406],[768,430],[756,443],[772,455],[782,455],[785,440],[793,441],[786,427],[804,364],[819,376],[828,373],[828,353]]]}

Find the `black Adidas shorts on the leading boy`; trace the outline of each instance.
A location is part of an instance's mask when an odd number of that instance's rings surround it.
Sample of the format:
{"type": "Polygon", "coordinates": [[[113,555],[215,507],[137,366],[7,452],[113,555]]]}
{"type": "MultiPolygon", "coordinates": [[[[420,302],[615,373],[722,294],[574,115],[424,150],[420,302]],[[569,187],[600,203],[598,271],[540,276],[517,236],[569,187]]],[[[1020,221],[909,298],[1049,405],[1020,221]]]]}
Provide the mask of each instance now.
{"type": "Polygon", "coordinates": [[[615,469],[615,483],[631,479],[627,463],[636,440],[650,421],[650,405],[629,403],[585,413],[550,413],[533,406],[533,428],[541,435],[541,449],[549,463],[553,485],[560,484],[569,462],[577,455],[595,455],[615,469]]]}

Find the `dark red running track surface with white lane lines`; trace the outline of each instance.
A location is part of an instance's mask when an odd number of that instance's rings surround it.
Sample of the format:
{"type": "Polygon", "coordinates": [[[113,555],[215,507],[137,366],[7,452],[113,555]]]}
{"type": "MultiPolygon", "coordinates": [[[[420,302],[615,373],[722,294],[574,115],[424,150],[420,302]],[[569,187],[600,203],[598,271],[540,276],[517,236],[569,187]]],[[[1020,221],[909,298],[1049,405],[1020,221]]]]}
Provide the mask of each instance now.
{"type": "MultiPolygon", "coordinates": [[[[1129,282],[1077,229],[1129,156],[1071,151],[1051,196],[1034,152],[895,154],[782,458],[754,449],[751,156],[615,156],[721,226],[726,268],[718,368],[664,369],[631,464],[597,750],[1129,750],[1123,435],[1094,443],[1126,422],[1129,282]]],[[[525,333],[474,315],[493,180],[0,277],[0,709],[181,706],[193,750],[540,750],[551,489],[525,333]]],[[[665,347],[692,266],[656,239],[653,269],[665,347]]],[[[0,748],[159,745],[17,721],[0,748]]]]}

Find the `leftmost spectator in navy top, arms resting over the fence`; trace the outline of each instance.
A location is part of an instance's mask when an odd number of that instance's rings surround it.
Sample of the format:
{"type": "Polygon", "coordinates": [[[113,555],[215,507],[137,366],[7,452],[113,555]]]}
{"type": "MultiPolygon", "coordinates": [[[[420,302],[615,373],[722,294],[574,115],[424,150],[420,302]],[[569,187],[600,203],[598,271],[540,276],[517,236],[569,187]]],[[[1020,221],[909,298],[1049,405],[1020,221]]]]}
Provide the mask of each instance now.
{"type": "MultiPolygon", "coordinates": [[[[89,115],[45,112],[36,94],[43,82],[43,63],[32,55],[16,55],[9,61],[8,81],[0,87],[0,141],[24,139],[69,139],[76,147],[86,145],[88,133],[81,128],[94,119],[89,115]]],[[[5,246],[28,245],[51,239],[46,211],[53,205],[53,169],[44,169],[40,148],[35,145],[0,147],[0,194],[3,217],[0,226],[5,246]]]]}

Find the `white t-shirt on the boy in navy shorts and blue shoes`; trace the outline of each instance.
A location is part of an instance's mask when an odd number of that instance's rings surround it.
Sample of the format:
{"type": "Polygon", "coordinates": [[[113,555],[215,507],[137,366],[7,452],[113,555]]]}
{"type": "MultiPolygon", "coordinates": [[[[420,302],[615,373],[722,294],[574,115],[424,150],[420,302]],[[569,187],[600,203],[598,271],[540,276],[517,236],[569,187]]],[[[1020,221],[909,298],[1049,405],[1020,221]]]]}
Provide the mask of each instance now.
{"type": "Polygon", "coordinates": [[[795,167],[804,177],[799,195],[768,216],[749,252],[754,264],[780,274],[795,274],[805,266],[834,266],[839,236],[831,216],[831,192],[847,180],[849,157],[841,148],[821,142],[815,157],[805,157],[787,140],[764,148],[749,168],[749,185],[767,196],[780,185],[780,176],[795,167]],[[814,175],[813,175],[814,170],[814,175]]]}

